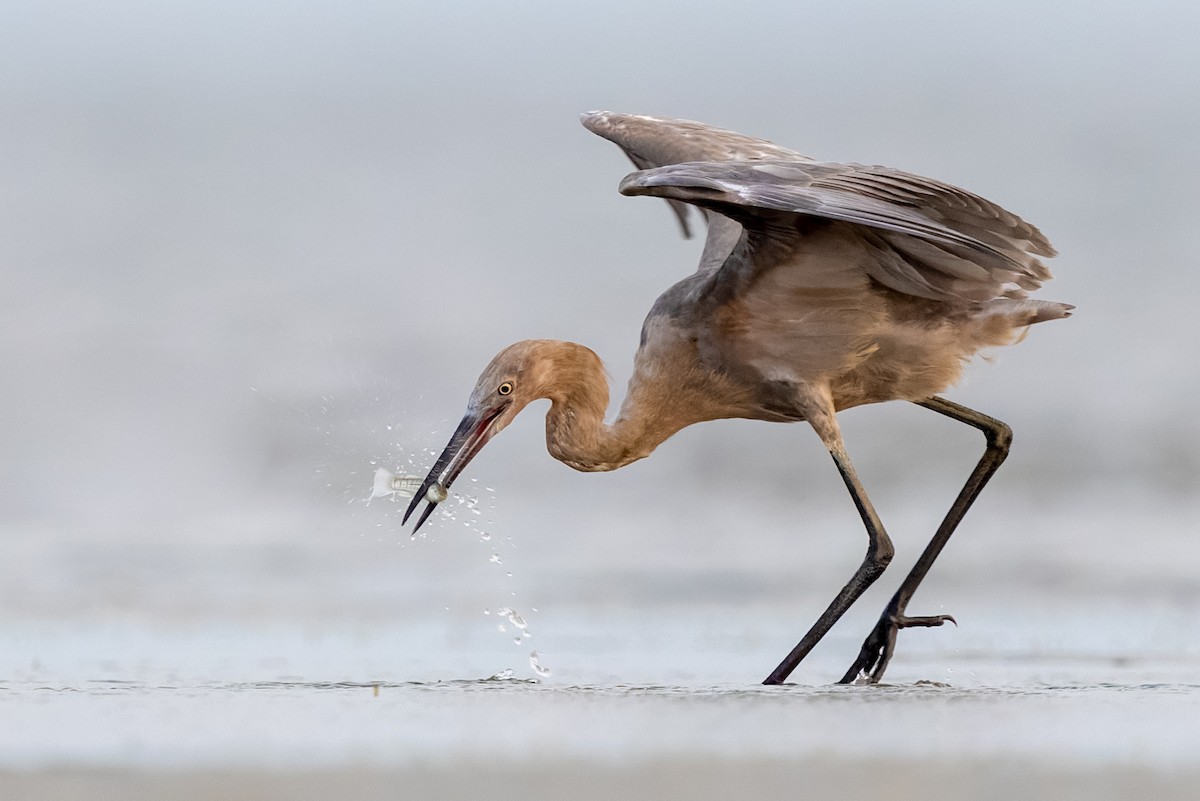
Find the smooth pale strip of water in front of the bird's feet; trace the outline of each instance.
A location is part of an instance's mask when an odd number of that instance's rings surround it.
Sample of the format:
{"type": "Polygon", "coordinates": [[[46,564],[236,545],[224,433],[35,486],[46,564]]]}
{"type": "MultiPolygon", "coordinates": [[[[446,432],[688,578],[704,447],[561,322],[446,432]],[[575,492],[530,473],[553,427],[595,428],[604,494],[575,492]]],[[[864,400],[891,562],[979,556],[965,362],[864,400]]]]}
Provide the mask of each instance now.
{"type": "Polygon", "coordinates": [[[1200,685],[568,686],[530,680],[112,680],[4,691],[5,767],[325,769],[504,759],[836,753],[1122,763],[1200,758],[1200,685]],[[180,725],[186,721],[186,725],[180,725]]]}

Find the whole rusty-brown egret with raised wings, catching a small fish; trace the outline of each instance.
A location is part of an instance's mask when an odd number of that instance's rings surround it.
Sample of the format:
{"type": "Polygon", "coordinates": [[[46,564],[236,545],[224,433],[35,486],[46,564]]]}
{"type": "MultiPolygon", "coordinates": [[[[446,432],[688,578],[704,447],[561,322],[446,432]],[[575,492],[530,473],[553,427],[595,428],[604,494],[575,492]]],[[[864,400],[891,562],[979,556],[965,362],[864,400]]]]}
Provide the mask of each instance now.
{"type": "Polygon", "coordinates": [[[932,540],[869,632],[841,683],[877,683],[908,601],[1008,454],[1003,422],[941,397],[980,350],[1024,338],[1073,306],[1034,300],[1056,255],[1033,225],[984,198],[899,169],[817,161],[690,120],[590,112],[590,132],[637,171],[625,195],[667,200],[684,236],[707,223],[700,265],[650,307],[619,412],[589,348],[529,339],[497,354],[406,514],[419,529],[445,489],[532,401],[548,398],[546,447],[582,471],[649,456],[688,426],[720,418],[808,422],[866,529],[862,564],[763,683],[784,683],[895,553],[854,472],[838,412],[907,401],[980,430],[985,450],[932,540]]]}

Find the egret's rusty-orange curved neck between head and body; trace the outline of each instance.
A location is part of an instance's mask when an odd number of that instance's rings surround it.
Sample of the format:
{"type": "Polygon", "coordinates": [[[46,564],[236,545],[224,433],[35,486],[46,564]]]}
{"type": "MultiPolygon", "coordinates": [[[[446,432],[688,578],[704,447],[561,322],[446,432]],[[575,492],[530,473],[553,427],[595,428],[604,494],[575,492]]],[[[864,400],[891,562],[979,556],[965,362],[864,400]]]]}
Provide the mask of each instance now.
{"type": "MultiPolygon", "coordinates": [[[[581,348],[582,345],[575,345],[581,348]]],[[[586,349],[584,349],[586,350],[586,349]]],[[[592,354],[590,350],[587,351],[592,354]]],[[[659,426],[649,404],[640,403],[640,381],[630,381],[629,396],[612,424],[605,422],[608,383],[599,357],[572,359],[556,369],[548,384],[551,408],[546,415],[546,450],[559,462],[583,470],[616,470],[650,454],[679,430],[659,426]]]]}

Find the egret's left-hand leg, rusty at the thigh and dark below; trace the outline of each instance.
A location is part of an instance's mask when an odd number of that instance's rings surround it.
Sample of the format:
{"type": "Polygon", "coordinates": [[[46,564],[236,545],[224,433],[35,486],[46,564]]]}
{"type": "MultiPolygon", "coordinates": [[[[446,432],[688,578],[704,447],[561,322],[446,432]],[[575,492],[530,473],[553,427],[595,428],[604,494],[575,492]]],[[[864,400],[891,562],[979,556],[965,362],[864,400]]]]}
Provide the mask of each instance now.
{"type": "Polygon", "coordinates": [[[841,434],[838,430],[838,423],[833,417],[833,414],[823,416],[823,420],[812,420],[812,427],[816,428],[821,439],[824,440],[826,446],[829,448],[830,456],[833,456],[834,463],[838,465],[838,471],[841,472],[842,481],[846,482],[846,488],[850,490],[851,496],[854,499],[854,506],[858,507],[858,513],[863,518],[863,525],[866,526],[866,555],[863,558],[863,564],[858,566],[854,574],[851,577],[850,582],[841,589],[841,592],[833,600],[829,607],[821,613],[817,621],[812,624],[812,628],[804,634],[804,638],[792,649],[792,652],[779,663],[779,667],[772,670],[770,675],[762,682],[764,685],[779,685],[782,683],[787,676],[791,675],[796,666],[800,663],[809,651],[821,642],[821,638],[833,627],[838,619],[850,609],[851,604],[858,600],[860,595],[875,583],[875,579],[883,573],[883,568],[888,566],[892,561],[892,556],[895,553],[895,548],[892,546],[892,540],[888,538],[888,532],[883,530],[883,524],[880,523],[880,516],[875,513],[875,508],[871,506],[871,501],[866,498],[866,492],[863,489],[863,484],[858,481],[858,475],[854,474],[854,468],[850,463],[850,457],[846,454],[846,448],[841,442],[841,434]]]}

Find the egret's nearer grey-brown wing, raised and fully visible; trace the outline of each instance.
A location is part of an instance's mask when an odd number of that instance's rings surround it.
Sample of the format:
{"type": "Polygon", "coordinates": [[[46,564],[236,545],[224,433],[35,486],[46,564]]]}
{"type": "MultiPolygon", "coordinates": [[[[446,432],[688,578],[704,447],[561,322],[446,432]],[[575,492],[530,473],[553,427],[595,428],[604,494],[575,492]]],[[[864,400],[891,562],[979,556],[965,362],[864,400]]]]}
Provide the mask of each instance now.
{"type": "MultiPolygon", "coordinates": [[[[727,215],[748,229],[780,212],[862,227],[869,275],[920,297],[1020,295],[1050,277],[1050,242],[976,194],[887,167],[832,162],[694,162],[634,173],[623,194],[649,194],[727,215]]],[[[798,234],[797,234],[798,235],[798,234]]]]}

